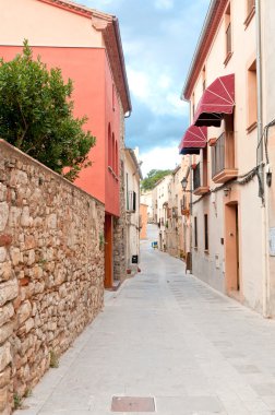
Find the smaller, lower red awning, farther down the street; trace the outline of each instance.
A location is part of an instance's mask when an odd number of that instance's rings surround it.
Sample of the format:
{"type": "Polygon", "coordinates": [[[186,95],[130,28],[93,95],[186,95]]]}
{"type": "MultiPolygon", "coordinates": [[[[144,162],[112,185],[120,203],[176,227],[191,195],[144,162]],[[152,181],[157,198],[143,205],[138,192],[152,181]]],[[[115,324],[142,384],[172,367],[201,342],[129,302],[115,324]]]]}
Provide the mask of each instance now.
{"type": "Polygon", "coordinates": [[[179,145],[180,154],[199,154],[207,143],[207,128],[190,126],[179,145]]]}

